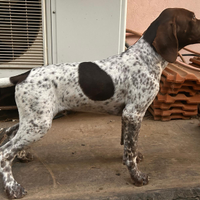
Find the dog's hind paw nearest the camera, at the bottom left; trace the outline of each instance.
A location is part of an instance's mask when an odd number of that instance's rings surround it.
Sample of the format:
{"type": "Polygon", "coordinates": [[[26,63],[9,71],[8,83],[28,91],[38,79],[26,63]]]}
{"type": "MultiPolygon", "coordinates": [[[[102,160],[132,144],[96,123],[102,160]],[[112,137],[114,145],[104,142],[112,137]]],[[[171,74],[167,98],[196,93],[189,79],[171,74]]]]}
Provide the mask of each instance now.
{"type": "Polygon", "coordinates": [[[6,185],[4,187],[4,191],[6,192],[9,199],[20,199],[27,194],[25,189],[17,182],[6,185]]]}

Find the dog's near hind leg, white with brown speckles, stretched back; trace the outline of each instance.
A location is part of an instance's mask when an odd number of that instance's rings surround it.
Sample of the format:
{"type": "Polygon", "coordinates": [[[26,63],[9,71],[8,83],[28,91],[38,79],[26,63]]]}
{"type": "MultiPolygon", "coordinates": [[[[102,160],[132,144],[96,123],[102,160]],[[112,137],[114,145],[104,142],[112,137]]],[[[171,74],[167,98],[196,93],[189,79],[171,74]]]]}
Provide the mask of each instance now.
{"type": "Polygon", "coordinates": [[[3,175],[4,189],[9,198],[22,198],[26,192],[18,184],[12,174],[12,161],[18,151],[32,142],[42,138],[50,129],[53,119],[52,112],[43,115],[30,115],[20,117],[19,130],[16,135],[5,145],[0,147],[0,172],[3,175]]]}

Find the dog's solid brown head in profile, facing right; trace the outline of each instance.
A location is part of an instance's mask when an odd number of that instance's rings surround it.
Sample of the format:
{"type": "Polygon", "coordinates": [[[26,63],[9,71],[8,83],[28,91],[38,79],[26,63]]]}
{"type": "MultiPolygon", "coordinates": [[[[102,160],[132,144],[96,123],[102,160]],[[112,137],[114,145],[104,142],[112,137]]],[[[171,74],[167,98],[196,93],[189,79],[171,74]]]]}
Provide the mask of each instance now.
{"type": "Polygon", "coordinates": [[[200,43],[200,20],[189,10],[168,8],[145,31],[144,39],[166,61],[174,62],[184,46],[200,43]]]}

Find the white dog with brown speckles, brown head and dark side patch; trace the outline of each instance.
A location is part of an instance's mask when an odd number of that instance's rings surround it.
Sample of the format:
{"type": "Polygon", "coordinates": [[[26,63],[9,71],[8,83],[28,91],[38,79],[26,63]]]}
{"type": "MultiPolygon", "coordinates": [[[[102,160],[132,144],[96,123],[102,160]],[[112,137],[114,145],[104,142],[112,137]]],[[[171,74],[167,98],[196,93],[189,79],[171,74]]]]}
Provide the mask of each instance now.
{"type": "Polygon", "coordinates": [[[161,73],[178,51],[200,43],[200,20],[183,8],[168,8],[143,36],[125,52],[94,62],[53,64],[0,79],[0,88],[15,87],[19,124],[0,147],[0,172],[9,198],[26,191],[13,175],[11,164],[18,151],[41,139],[60,111],[122,115],[123,162],[136,186],[149,177],[138,169],[137,141],[143,116],[159,91],[161,73]]]}

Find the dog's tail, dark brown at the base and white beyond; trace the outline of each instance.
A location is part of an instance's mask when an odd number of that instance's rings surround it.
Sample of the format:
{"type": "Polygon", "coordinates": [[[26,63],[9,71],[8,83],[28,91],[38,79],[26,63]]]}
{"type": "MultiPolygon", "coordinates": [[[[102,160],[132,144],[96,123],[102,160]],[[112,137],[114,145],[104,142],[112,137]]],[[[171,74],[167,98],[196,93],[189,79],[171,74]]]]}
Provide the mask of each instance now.
{"type": "Polygon", "coordinates": [[[21,83],[27,78],[29,73],[30,71],[17,75],[17,76],[12,76],[8,78],[0,78],[0,88],[7,88],[7,87],[17,85],[18,83],[21,83]]]}

